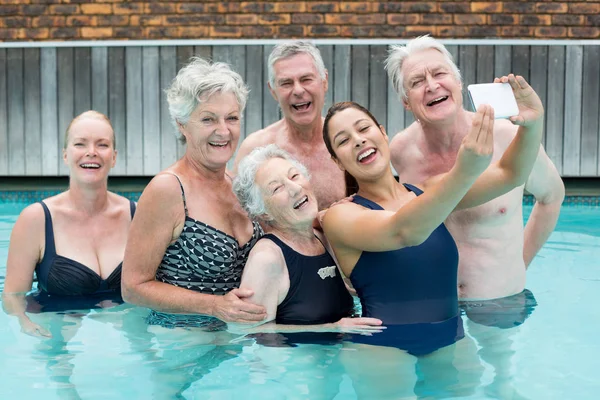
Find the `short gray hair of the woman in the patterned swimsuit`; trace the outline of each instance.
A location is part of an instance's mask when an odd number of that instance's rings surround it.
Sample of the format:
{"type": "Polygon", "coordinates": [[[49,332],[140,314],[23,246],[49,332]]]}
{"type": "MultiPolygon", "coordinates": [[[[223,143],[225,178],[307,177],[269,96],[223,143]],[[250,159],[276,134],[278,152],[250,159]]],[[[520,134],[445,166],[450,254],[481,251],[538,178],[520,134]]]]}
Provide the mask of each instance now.
{"type": "Polygon", "coordinates": [[[171,120],[179,139],[185,143],[185,138],[179,134],[178,124],[187,124],[190,115],[204,99],[215,93],[233,93],[242,113],[246,107],[249,90],[242,77],[228,64],[192,57],[190,62],[179,70],[165,92],[171,120]]]}

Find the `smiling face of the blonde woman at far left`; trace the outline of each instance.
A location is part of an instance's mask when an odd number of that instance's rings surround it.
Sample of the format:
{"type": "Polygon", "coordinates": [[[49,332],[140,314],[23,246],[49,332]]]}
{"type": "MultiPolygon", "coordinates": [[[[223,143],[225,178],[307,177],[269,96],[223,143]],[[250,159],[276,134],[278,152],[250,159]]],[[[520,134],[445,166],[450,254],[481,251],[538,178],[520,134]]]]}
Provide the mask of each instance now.
{"type": "Polygon", "coordinates": [[[63,161],[71,178],[85,182],[106,181],[115,166],[117,151],[110,123],[95,116],[80,116],[71,123],[63,161]]]}

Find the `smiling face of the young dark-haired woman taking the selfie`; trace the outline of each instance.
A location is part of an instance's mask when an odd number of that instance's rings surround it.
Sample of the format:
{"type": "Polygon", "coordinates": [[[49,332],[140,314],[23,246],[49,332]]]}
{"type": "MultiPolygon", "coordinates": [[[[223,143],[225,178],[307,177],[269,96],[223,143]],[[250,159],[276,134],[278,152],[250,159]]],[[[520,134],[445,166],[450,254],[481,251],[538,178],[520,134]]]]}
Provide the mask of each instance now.
{"type": "Polygon", "coordinates": [[[354,107],[337,112],[327,122],[335,161],[355,178],[380,174],[389,168],[390,153],[385,129],[354,107]]]}

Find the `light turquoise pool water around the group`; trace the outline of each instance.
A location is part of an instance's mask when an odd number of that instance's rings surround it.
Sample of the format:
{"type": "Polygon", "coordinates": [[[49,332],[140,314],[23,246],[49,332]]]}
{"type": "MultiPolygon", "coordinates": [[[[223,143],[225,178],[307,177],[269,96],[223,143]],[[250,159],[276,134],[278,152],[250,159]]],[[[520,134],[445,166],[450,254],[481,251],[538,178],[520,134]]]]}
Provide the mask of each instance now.
{"type": "MultiPolygon", "coordinates": [[[[0,290],[10,230],[25,205],[0,200],[0,290]]],[[[597,398],[599,206],[563,206],[527,287],[538,305],[525,323],[498,329],[463,317],[463,353],[449,364],[425,357],[390,365],[384,384],[420,399],[597,398]]],[[[120,305],[30,314],[53,334],[40,340],[0,311],[0,398],[355,399],[378,384],[370,371],[385,362],[374,351],[349,370],[355,353],[344,343],[267,347],[227,332],[148,327],[147,313],[120,305]]]]}

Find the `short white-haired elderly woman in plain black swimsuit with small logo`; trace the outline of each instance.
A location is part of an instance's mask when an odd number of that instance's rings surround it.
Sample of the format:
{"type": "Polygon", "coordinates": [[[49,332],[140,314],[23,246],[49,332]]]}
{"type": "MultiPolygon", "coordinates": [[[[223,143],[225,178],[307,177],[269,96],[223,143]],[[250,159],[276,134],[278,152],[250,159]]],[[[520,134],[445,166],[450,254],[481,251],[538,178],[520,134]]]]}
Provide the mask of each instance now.
{"type": "Polygon", "coordinates": [[[240,162],[233,190],[249,216],[265,226],[266,234],[250,251],[240,287],[252,290],[247,300],[267,311],[263,321],[233,329],[381,329],[378,319],[348,318],[352,296],[323,234],[313,228],[318,205],[304,165],[274,144],[259,147],[240,162]]]}

